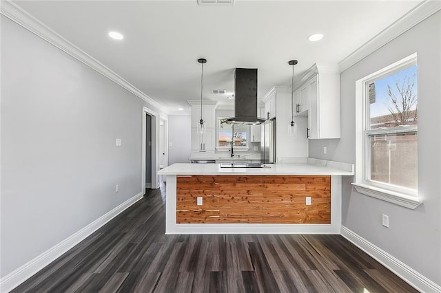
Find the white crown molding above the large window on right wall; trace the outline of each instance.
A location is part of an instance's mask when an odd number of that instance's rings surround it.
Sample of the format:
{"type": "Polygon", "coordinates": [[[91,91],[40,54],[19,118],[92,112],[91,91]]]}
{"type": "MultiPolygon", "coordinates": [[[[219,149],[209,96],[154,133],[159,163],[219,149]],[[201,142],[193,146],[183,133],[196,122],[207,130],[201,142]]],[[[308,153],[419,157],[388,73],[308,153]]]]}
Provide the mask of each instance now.
{"type": "Polygon", "coordinates": [[[400,17],[400,19],[389,25],[357,50],[349,54],[349,56],[340,61],[338,63],[340,72],[344,72],[352,65],[358,63],[366,56],[369,56],[378,50],[380,47],[386,45],[393,39],[396,39],[396,37],[400,36],[400,34],[410,30],[415,25],[418,25],[418,23],[424,21],[424,19],[427,19],[432,14],[440,10],[441,1],[422,1],[420,4],[418,4],[418,6],[407,12],[407,14],[404,14],[402,17],[400,17]]]}

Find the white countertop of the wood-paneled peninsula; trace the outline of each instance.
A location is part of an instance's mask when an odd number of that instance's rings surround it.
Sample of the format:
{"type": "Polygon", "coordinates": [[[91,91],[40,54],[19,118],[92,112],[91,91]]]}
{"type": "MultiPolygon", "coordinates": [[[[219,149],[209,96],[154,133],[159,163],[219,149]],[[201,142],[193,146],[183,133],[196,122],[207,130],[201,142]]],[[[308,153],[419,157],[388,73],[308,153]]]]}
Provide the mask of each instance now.
{"type": "Polygon", "coordinates": [[[266,164],[269,168],[220,168],[220,164],[172,164],[158,175],[353,175],[353,164],[308,158],[305,163],[266,164]]]}

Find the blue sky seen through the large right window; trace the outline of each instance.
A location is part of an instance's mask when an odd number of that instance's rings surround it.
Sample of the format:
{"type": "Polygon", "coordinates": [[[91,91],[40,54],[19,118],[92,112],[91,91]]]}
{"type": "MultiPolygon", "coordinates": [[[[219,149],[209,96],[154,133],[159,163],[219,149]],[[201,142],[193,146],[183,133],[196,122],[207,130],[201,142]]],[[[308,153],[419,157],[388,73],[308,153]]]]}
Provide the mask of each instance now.
{"type": "MultiPolygon", "coordinates": [[[[375,81],[376,102],[371,104],[370,107],[371,117],[378,117],[390,113],[389,110],[387,109],[387,105],[392,106],[392,102],[391,102],[391,98],[387,94],[388,84],[391,86],[392,91],[396,92],[396,96],[400,97],[400,94],[398,94],[395,85],[396,80],[399,80],[398,84],[402,85],[404,78],[407,77],[412,78],[413,74],[415,74],[416,79],[418,79],[416,73],[417,73],[417,65],[414,65],[412,67],[402,70],[401,72],[392,74],[391,76],[387,76],[382,79],[376,80],[375,81]]],[[[418,91],[417,83],[415,85],[414,91],[415,92],[418,91]]],[[[393,106],[392,109],[394,109],[393,106]]]]}

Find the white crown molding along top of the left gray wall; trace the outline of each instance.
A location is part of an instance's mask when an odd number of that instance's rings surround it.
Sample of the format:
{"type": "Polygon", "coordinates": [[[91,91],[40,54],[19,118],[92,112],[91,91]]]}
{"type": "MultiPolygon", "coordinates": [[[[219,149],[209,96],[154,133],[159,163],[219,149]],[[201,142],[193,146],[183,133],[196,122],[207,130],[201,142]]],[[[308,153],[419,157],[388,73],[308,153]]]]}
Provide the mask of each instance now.
{"type": "Polygon", "coordinates": [[[70,41],[63,38],[63,36],[57,34],[57,32],[54,32],[54,30],[52,30],[47,25],[23,10],[23,8],[17,6],[17,4],[12,3],[10,0],[1,0],[0,14],[3,14],[5,17],[8,17],[8,19],[21,25],[26,30],[29,30],[33,34],[39,36],[41,39],[47,41],[51,45],[54,45],[63,52],[76,58],[76,60],[94,69],[96,72],[99,72],[103,76],[109,78],[117,85],[120,85],[124,89],[127,89],[127,91],[130,91],[132,94],[134,94],[138,98],[141,98],[150,105],[156,107],[163,113],[168,113],[165,106],[156,102],[155,100],[150,98],[150,96],[147,96],[141,90],[134,87],[134,85],[129,83],[127,80],[103,65],[103,63],[97,61],[95,58],[88,55],[79,47],[76,47],[76,45],[74,45],[73,43],[70,43],[70,41]]]}

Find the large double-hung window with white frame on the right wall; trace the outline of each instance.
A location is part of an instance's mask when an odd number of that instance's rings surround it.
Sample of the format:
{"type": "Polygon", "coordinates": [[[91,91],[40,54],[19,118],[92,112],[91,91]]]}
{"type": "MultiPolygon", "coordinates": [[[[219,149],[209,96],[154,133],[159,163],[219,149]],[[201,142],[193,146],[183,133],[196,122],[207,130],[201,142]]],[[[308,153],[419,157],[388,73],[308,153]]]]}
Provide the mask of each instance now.
{"type": "Polygon", "coordinates": [[[416,208],[418,76],[416,54],[356,82],[357,191],[416,208]]]}

